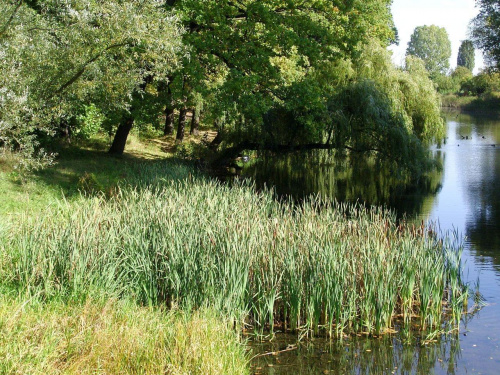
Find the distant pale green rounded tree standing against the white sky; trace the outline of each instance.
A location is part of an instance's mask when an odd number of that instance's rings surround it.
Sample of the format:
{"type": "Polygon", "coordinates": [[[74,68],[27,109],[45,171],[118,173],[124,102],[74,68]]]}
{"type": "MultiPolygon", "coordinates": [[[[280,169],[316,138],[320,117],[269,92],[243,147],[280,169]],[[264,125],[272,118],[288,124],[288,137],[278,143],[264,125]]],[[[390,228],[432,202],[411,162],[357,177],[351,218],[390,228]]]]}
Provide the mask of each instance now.
{"type": "Polygon", "coordinates": [[[431,75],[446,74],[450,68],[451,42],[443,27],[418,26],[411,35],[406,55],[417,56],[431,75]]]}

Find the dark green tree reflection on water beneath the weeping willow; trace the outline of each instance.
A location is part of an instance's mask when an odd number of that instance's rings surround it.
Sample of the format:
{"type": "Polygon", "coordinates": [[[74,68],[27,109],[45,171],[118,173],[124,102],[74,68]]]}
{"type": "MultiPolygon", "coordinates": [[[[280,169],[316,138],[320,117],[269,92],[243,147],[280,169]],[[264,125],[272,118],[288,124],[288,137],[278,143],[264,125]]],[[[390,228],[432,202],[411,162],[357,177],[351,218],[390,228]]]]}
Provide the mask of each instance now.
{"type": "MultiPolygon", "coordinates": [[[[436,162],[442,155],[435,154],[436,162]]],[[[328,152],[261,155],[243,171],[257,187],[272,186],[278,196],[301,199],[311,194],[342,202],[384,205],[407,215],[428,212],[441,188],[442,171],[419,180],[366,158],[339,160],[328,152]]]]}

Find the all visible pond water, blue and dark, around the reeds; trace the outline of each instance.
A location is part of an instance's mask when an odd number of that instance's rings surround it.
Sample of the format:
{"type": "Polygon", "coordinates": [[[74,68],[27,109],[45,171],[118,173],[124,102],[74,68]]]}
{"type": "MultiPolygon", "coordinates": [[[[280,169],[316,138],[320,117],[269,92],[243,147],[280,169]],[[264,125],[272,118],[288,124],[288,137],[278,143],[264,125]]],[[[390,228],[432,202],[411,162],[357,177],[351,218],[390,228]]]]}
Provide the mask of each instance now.
{"type": "Polygon", "coordinates": [[[278,195],[319,192],[384,204],[399,216],[457,230],[464,237],[465,277],[471,285],[479,280],[486,306],[465,318],[460,332],[425,346],[405,344],[397,334],[295,346],[296,337],[278,334],[271,343],[251,344],[254,374],[500,374],[500,120],[445,116],[446,142],[433,147],[443,168],[418,183],[407,185],[396,172],[369,163],[347,169],[328,158],[304,162],[303,156],[260,160],[244,175],[278,195]]]}

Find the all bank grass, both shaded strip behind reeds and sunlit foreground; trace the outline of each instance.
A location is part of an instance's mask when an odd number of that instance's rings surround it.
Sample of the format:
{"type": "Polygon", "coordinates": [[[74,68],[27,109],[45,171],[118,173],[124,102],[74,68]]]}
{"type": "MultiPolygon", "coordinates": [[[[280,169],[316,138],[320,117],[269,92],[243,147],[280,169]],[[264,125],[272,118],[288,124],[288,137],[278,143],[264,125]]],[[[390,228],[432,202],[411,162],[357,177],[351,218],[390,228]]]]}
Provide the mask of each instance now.
{"type": "MultiPolygon", "coordinates": [[[[32,173],[21,173],[15,156],[0,155],[0,268],[10,266],[5,261],[13,249],[5,241],[12,226],[26,218],[86,205],[96,195],[108,199],[125,180],[141,185],[146,171],[155,175],[148,180],[153,185],[196,173],[172,158],[154,173],[171,156],[173,142],[148,147],[131,138],[123,157],[109,156],[99,141],[61,147],[54,166],[32,173]]],[[[0,374],[25,373],[246,374],[249,363],[241,338],[213,309],[167,311],[96,289],[80,298],[62,290],[47,298],[3,280],[0,374]]]]}

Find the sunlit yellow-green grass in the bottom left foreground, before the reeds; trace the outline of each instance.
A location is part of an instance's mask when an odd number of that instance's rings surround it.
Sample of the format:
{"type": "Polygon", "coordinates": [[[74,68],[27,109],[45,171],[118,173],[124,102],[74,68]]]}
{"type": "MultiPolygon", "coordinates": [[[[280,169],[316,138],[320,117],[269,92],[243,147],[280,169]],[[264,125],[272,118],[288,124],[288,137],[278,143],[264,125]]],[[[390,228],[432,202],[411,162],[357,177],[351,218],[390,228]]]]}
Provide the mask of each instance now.
{"type": "Polygon", "coordinates": [[[246,374],[236,333],[210,311],[0,297],[1,374],[246,374]]]}

